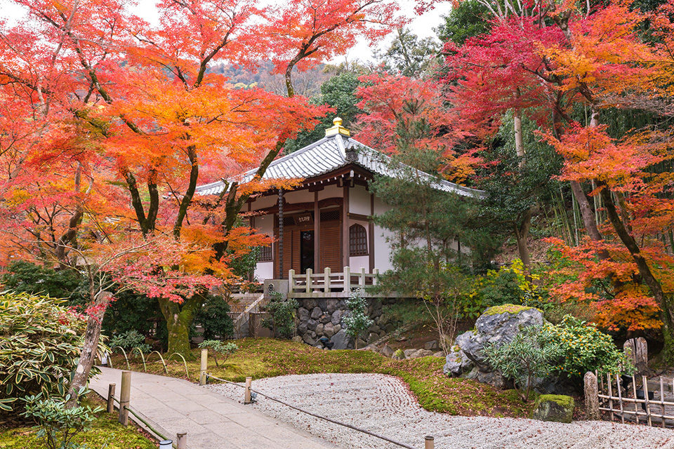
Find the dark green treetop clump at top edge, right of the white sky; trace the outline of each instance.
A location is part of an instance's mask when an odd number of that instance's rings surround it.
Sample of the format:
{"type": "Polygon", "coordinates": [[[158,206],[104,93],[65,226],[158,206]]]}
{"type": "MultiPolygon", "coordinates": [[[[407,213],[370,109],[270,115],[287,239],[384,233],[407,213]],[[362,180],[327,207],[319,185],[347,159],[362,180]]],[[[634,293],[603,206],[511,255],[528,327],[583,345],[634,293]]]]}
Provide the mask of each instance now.
{"type": "Polygon", "coordinates": [[[463,45],[466,39],[489,32],[490,20],[489,10],[480,1],[461,1],[444,16],[444,23],[437,27],[437,36],[443,42],[463,45]]]}

